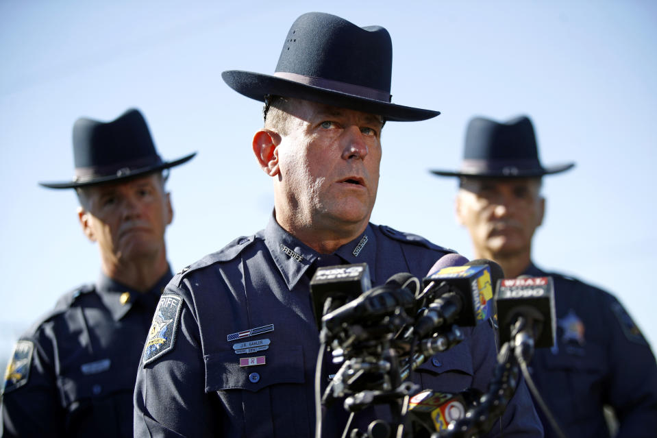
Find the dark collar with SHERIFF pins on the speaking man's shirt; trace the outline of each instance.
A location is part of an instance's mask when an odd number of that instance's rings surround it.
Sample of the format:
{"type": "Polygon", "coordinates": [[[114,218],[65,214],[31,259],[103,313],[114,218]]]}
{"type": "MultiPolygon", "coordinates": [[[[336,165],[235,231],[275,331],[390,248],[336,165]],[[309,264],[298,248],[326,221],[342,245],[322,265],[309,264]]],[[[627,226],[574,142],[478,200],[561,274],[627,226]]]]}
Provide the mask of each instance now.
{"type": "MultiPolygon", "coordinates": [[[[319,253],[284,230],[272,215],[264,229],[264,243],[290,290],[295,287],[319,253]]],[[[347,263],[367,263],[375,281],[376,239],[371,224],[353,241],[335,252],[347,263]]]]}

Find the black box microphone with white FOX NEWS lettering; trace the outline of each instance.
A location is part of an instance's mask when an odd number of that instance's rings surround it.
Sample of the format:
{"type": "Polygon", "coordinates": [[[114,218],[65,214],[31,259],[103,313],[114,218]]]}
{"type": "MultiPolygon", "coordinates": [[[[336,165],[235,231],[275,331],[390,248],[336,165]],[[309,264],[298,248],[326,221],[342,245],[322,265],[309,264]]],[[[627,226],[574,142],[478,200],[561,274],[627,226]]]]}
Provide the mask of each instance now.
{"type": "Polygon", "coordinates": [[[310,280],[312,313],[321,329],[323,315],[354,300],[372,286],[367,263],[318,267],[310,280]]]}

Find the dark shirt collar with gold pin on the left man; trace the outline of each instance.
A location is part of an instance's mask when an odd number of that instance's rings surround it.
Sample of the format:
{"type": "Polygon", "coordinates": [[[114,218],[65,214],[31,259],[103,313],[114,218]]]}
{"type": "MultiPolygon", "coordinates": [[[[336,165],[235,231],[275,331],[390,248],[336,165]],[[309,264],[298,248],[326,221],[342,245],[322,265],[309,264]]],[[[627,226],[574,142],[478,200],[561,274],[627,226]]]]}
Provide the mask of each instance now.
{"type": "Polygon", "coordinates": [[[173,278],[171,268],[168,267],[166,273],[156,282],[149,291],[142,293],[127,287],[116,280],[112,280],[101,271],[98,281],[96,282],[96,292],[101,297],[103,304],[112,314],[114,321],[119,321],[134,306],[136,302],[142,302],[147,307],[152,307],[155,311],[160,295],[164,287],[173,278]],[[152,306],[150,304],[153,304],[152,306]]]}

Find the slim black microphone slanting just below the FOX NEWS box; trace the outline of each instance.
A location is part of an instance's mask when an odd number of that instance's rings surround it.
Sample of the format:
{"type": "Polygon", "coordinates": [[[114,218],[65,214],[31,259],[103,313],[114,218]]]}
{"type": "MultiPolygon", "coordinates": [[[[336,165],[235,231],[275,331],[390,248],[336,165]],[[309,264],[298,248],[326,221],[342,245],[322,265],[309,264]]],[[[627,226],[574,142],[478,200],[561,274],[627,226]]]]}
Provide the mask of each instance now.
{"type": "Polygon", "coordinates": [[[395,274],[388,279],[386,284],[374,287],[364,292],[356,300],[324,315],[322,318],[324,327],[330,334],[336,334],[344,324],[354,321],[375,322],[386,315],[391,315],[397,308],[403,308],[408,315],[414,315],[416,311],[415,294],[408,287],[400,287],[410,278],[413,278],[410,274],[395,274]]]}

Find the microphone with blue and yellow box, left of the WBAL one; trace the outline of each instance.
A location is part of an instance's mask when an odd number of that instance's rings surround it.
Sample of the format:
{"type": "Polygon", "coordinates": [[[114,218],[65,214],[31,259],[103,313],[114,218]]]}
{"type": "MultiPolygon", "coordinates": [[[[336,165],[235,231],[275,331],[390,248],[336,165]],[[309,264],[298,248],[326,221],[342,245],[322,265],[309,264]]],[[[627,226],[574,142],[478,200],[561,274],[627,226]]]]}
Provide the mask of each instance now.
{"type": "Polygon", "coordinates": [[[415,324],[416,336],[426,336],[448,324],[476,326],[493,316],[493,286],[488,262],[490,260],[481,259],[462,266],[443,267],[423,279],[423,294],[435,298],[415,324]]]}

